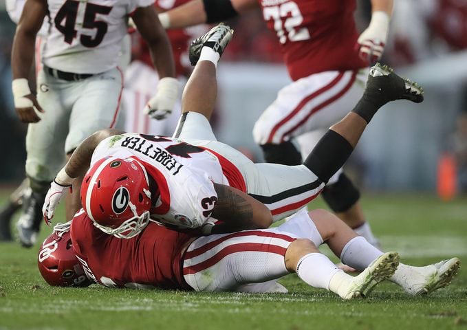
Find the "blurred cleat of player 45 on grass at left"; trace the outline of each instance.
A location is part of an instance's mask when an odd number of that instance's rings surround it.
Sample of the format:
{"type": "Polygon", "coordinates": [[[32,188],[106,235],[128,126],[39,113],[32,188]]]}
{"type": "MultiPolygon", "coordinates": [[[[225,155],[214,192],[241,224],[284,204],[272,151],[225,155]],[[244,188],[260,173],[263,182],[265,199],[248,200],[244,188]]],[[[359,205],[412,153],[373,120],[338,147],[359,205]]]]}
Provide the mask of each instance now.
{"type": "Polygon", "coordinates": [[[32,192],[25,198],[23,214],[18,219],[17,230],[19,243],[25,248],[31,248],[37,241],[37,235],[42,222],[42,205],[45,195],[32,192]]]}

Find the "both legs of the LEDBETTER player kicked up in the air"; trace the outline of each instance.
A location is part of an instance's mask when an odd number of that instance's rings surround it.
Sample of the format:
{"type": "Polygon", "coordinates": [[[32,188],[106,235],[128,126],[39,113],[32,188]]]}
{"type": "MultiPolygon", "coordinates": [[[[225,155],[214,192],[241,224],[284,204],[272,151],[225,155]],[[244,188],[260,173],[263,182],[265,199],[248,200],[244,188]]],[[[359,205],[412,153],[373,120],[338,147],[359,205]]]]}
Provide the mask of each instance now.
{"type": "Polygon", "coordinates": [[[235,149],[216,142],[208,123],[217,94],[217,61],[231,33],[225,25],[217,25],[192,43],[190,54],[196,67],[184,89],[183,114],[174,137],[209,148],[235,164],[246,182],[246,192],[270,208],[274,221],[306,206],[323,190],[382,105],[391,100],[421,102],[423,99],[421,89],[415,84],[377,65],[371,70],[365,94],[354,111],[325,133],[303,165],[253,164],[235,149]]]}

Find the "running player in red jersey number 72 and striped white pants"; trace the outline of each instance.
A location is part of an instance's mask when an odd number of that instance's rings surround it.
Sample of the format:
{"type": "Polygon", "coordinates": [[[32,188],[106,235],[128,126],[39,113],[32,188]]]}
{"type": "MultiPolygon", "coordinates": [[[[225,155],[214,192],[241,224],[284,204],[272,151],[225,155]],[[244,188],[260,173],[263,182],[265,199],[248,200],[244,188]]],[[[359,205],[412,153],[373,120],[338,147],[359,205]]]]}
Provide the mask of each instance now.
{"type": "MultiPolygon", "coordinates": [[[[257,120],[253,136],[266,162],[298,165],[329,126],[345,116],[348,104],[356,104],[368,65],[382,55],[393,0],[371,0],[371,5],[371,22],[360,35],[355,0],[193,0],[160,14],[160,21],[171,29],[262,10],[294,81],[257,120]]],[[[358,202],[360,192],[345,173],[338,171],[322,195],[338,217],[378,245],[358,202]]]]}

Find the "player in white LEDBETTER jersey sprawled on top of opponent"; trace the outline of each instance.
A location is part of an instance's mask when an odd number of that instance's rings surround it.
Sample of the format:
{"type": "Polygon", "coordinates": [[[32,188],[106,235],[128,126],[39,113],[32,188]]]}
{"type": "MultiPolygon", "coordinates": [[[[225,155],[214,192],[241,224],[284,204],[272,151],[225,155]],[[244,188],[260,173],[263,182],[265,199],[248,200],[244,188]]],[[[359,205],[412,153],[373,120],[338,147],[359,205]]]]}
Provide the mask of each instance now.
{"type": "Polygon", "coordinates": [[[50,223],[67,186],[91,164],[81,200],[94,225],[107,234],[131,238],[150,220],[201,228],[204,234],[266,228],[321,192],[382,105],[423,100],[415,83],[376,65],[360,102],[327,131],[303,164],[254,164],[218,142],[208,122],[217,94],[217,62],[231,37],[232,30],[219,24],[193,41],[190,59],[197,64],[173,137],[111,130],[91,135],[52,182],[43,206],[45,221],[50,223]]]}

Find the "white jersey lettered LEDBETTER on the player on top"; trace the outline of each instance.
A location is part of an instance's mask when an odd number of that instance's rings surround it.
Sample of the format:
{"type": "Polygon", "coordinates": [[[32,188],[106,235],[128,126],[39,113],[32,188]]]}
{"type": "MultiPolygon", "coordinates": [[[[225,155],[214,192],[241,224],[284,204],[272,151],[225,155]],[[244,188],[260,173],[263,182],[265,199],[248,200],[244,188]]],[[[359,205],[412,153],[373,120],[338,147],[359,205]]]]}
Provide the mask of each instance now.
{"type": "Polygon", "coordinates": [[[219,159],[210,151],[171,137],[125,133],[97,146],[91,165],[103,157],[135,157],[158,184],[151,219],[177,228],[198,228],[217,201],[213,183],[226,184],[219,159]]]}

